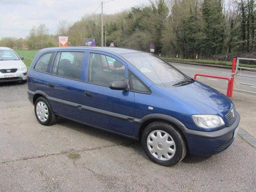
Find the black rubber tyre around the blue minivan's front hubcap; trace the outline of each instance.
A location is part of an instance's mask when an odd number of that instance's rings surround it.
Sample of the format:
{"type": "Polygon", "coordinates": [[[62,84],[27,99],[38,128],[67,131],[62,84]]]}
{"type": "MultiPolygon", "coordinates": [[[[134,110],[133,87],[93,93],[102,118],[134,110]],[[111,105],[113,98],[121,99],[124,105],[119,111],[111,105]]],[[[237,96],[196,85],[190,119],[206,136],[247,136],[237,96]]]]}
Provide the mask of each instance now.
{"type": "Polygon", "coordinates": [[[145,130],[142,133],[141,144],[144,148],[146,155],[149,157],[149,159],[151,159],[153,162],[157,164],[164,165],[164,166],[172,166],[179,163],[180,161],[182,161],[182,159],[186,156],[186,153],[187,153],[185,140],[183,139],[180,132],[178,132],[172,124],[162,122],[162,121],[153,122],[145,128],[145,130]],[[176,151],[172,156],[172,158],[170,157],[171,159],[169,160],[160,160],[161,158],[160,159],[156,158],[151,154],[151,152],[148,149],[148,144],[147,144],[148,135],[151,132],[156,130],[160,130],[168,133],[172,137],[172,140],[175,143],[176,151]]]}

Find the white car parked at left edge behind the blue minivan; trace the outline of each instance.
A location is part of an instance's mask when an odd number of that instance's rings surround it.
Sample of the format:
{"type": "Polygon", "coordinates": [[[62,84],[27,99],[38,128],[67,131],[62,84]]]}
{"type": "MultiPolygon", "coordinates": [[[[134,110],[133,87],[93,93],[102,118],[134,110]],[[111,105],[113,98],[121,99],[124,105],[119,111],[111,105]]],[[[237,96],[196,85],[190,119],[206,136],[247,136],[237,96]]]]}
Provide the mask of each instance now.
{"type": "Polygon", "coordinates": [[[11,48],[0,47],[0,83],[9,81],[27,81],[27,68],[11,48]]]}

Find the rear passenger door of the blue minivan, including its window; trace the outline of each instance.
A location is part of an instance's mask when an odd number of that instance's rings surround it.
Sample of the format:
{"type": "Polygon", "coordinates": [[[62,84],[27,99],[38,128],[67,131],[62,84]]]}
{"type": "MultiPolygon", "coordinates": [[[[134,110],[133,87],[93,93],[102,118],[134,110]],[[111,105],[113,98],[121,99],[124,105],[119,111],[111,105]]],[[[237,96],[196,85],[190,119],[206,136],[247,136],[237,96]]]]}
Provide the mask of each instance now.
{"type": "Polygon", "coordinates": [[[53,111],[77,121],[83,120],[84,58],[84,50],[56,52],[48,79],[47,95],[53,111]]]}

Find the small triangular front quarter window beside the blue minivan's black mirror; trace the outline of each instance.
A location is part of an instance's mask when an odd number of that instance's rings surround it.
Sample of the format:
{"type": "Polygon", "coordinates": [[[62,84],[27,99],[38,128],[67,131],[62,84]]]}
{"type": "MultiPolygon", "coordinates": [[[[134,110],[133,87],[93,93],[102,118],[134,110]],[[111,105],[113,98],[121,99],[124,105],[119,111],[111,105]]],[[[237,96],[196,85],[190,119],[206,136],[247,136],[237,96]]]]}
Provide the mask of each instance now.
{"type": "Polygon", "coordinates": [[[131,90],[135,92],[142,92],[142,93],[151,93],[148,87],[143,84],[140,79],[135,76],[131,71],[129,71],[129,80],[131,85],[131,90]]]}

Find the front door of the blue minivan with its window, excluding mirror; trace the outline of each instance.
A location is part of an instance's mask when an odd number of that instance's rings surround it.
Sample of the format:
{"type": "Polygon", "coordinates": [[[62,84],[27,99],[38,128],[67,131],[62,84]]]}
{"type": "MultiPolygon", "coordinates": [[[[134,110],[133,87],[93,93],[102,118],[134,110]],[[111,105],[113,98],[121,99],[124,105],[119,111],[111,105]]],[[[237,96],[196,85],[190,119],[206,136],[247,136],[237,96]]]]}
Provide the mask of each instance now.
{"type": "Polygon", "coordinates": [[[111,90],[113,81],[128,80],[124,61],[112,54],[88,51],[82,95],[85,123],[132,136],[134,93],[111,90]]]}

